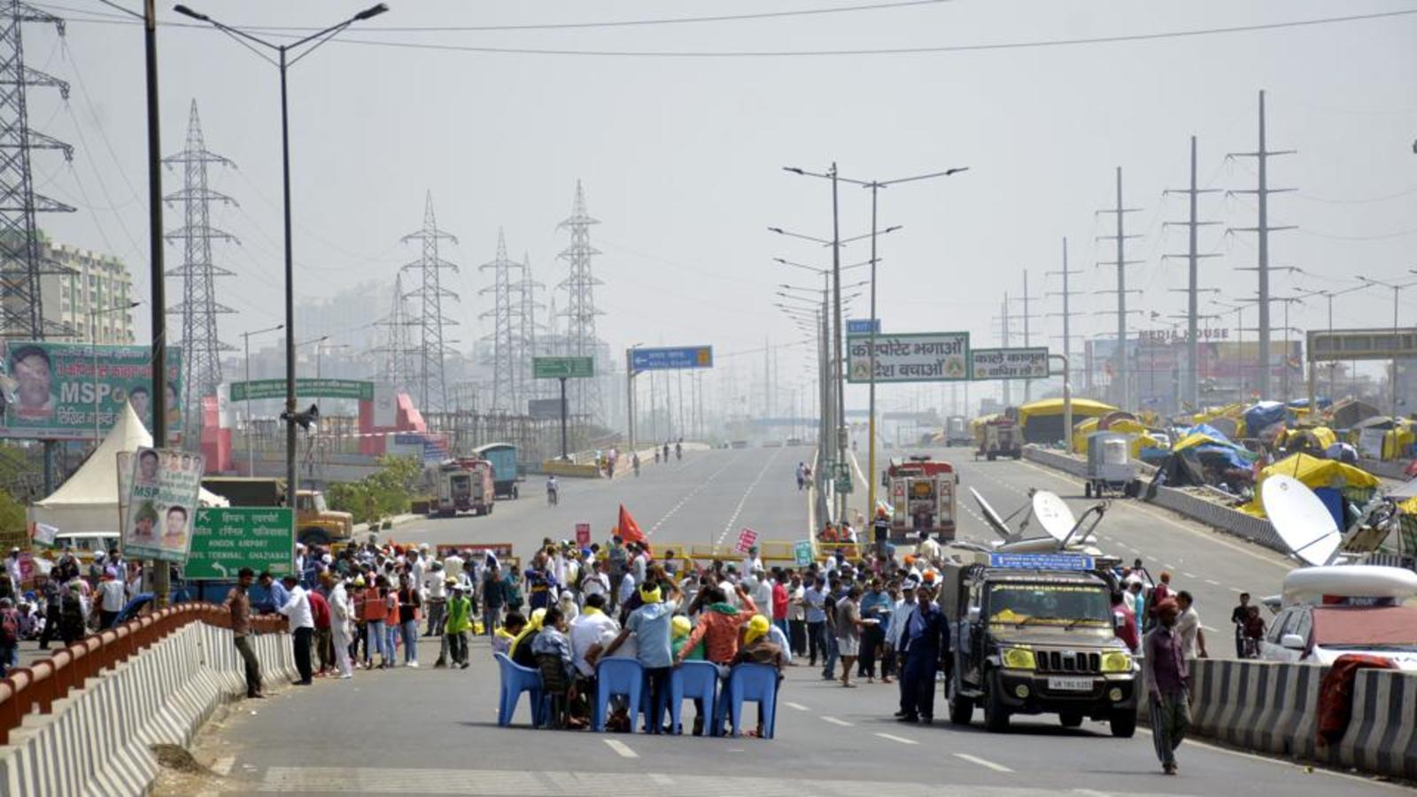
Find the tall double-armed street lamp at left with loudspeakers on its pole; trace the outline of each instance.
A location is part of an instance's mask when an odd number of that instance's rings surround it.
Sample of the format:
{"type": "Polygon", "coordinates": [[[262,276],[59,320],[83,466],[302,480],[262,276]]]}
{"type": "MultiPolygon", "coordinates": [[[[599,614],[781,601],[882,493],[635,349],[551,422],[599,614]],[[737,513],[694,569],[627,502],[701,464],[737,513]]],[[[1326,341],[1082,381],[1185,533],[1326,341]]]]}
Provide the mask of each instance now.
{"type": "Polygon", "coordinates": [[[299,38],[290,44],[272,44],[264,38],[252,35],[244,30],[234,28],[231,26],[222,24],[207,14],[193,11],[187,6],[174,6],[174,11],[194,20],[208,23],[221,33],[235,38],[238,43],[245,45],[252,52],[261,55],[265,61],[273,64],[281,72],[281,163],[282,163],[282,183],[283,183],[283,199],[285,199],[285,503],[286,506],[295,508],[295,494],[296,494],[296,469],[295,469],[295,425],[296,425],[296,411],[295,411],[295,338],[290,335],[295,332],[295,254],[292,248],[292,223],[290,223],[290,109],[286,95],[286,69],[313,52],[319,45],[334,38],[340,31],[350,27],[354,23],[361,23],[364,20],[377,17],[388,10],[388,6],[380,3],[364,9],[363,11],[354,14],[353,17],[330,26],[322,31],[312,33],[305,38],[299,38]],[[256,44],[273,51],[276,60],[271,61],[259,50],[251,47],[256,44]],[[309,47],[306,47],[309,45],[309,47]],[[288,60],[290,52],[299,51],[295,58],[288,60]]]}

